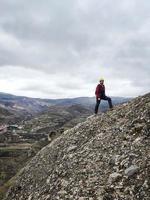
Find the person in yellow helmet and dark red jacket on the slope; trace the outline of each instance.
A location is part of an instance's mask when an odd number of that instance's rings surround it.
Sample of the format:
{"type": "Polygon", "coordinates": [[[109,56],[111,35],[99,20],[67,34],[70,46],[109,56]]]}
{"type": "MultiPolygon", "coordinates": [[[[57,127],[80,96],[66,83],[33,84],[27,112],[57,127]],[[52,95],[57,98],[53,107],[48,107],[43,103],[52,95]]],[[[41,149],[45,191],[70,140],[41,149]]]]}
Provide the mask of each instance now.
{"type": "Polygon", "coordinates": [[[95,114],[98,113],[98,108],[99,108],[99,104],[101,100],[108,101],[109,108],[110,109],[113,108],[111,98],[105,95],[104,79],[100,78],[99,82],[100,83],[97,85],[96,90],[95,90],[95,95],[96,95],[95,114]]]}

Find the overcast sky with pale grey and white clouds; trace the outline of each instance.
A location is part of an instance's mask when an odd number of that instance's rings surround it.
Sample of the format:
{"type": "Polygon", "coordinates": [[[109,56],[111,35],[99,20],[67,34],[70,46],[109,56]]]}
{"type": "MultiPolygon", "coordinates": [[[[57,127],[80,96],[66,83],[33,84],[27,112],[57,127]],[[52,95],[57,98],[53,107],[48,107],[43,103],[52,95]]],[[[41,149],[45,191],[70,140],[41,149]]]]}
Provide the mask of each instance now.
{"type": "Polygon", "coordinates": [[[150,1],[0,0],[0,91],[41,98],[150,91],[150,1]]]}

